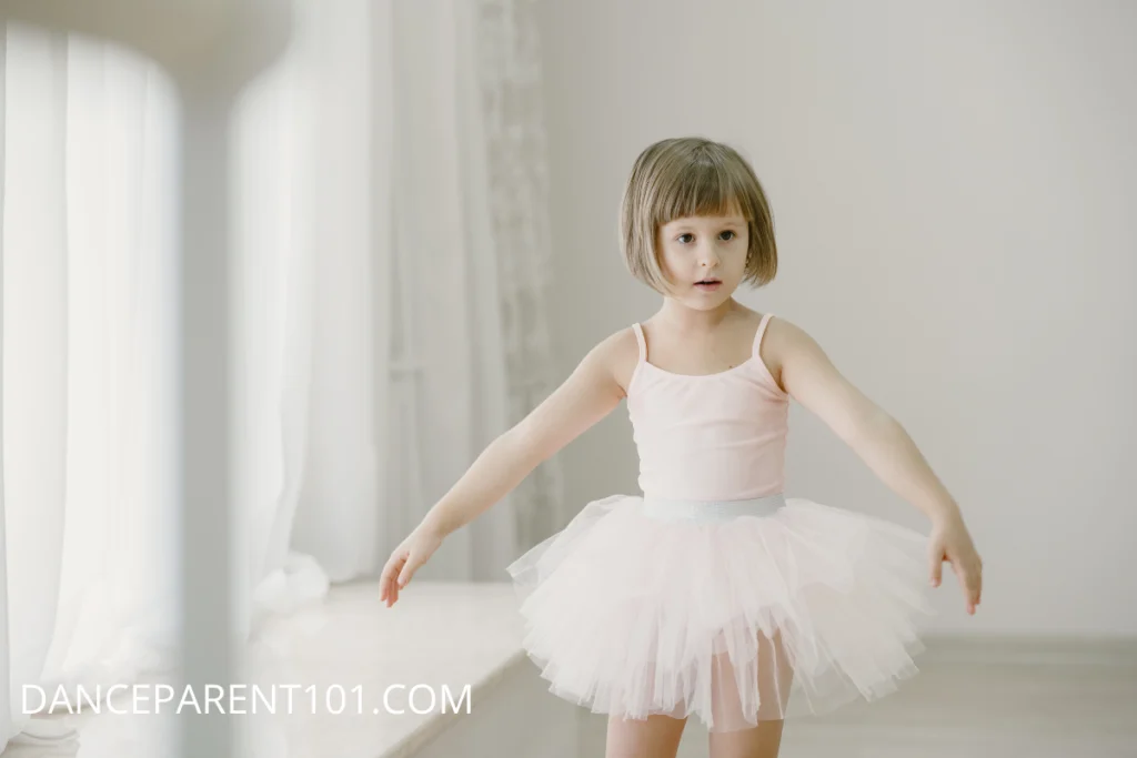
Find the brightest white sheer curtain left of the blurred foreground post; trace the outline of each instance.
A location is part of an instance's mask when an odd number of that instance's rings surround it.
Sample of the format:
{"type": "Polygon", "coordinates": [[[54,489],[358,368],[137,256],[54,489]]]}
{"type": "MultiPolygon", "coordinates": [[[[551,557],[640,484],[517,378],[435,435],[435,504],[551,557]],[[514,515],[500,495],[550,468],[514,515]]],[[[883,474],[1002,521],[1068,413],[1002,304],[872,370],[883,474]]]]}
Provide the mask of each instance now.
{"type": "Polygon", "coordinates": [[[22,27],[5,80],[7,739],[23,684],[128,678],[168,655],[176,616],[169,90],[22,27]]]}

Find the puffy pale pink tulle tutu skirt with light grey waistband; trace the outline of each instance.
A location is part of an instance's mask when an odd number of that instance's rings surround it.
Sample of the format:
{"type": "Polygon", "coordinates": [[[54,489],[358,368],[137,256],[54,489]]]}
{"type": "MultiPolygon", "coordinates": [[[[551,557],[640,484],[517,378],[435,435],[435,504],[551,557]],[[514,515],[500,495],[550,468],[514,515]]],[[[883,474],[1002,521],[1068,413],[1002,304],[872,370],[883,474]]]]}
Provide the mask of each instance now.
{"type": "Polygon", "coordinates": [[[914,674],[927,549],[803,498],[616,494],[507,570],[550,692],[727,732],[875,699],[914,674]]]}

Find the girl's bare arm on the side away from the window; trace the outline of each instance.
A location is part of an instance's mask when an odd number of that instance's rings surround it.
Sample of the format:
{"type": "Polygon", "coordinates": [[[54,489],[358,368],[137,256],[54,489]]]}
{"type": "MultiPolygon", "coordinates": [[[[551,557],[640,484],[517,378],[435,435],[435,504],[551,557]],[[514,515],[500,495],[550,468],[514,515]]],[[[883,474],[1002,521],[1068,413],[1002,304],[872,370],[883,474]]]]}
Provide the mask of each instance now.
{"type": "Polygon", "coordinates": [[[982,591],[982,560],[976,552],[960,507],[931,470],[899,422],[846,380],[821,347],[785,319],[770,324],[762,351],[781,366],[782,388],[816,414],[894,492],[932,523],[929,544],[931,584],[939,586],[944,560],[952,564],[969,614],[982,591]]]}

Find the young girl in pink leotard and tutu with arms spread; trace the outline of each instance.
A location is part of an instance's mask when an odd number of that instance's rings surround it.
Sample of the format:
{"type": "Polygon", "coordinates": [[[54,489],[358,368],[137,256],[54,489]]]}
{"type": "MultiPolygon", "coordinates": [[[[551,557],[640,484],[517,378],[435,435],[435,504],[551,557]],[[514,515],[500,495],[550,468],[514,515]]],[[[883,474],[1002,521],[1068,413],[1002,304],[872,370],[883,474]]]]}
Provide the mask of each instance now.
{"type": "Polygon", "coordinates": [[[774,277],[750,166],[703,139],[653,144],[621,209],[631,273],[659,310],[597,344],[495,440],[391,555],[390,607],[445,535],[628,400],[641,495],[589,502],[508,570],[549,691],[608,714],[607,755],[674,756],[686,719],[711,755],[774,757],[782,719],[893,691],[915,673],[924,572],[951,561],[966,609],[982,564],[904,428],[791,322],[733,299],[774,277]],[[783,493],[789,399],[820,416],[931,522],[931,538],[783,493]]]}

